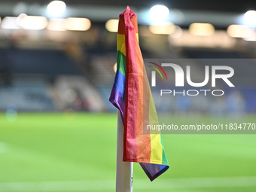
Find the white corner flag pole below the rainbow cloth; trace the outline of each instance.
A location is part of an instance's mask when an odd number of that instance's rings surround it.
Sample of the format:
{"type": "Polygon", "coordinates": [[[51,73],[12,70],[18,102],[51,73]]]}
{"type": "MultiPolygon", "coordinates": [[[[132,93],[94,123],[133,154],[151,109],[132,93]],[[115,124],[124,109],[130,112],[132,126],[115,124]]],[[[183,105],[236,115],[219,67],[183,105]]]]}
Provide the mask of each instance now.
{"type": "Polygon", "coordinates": [[[117,109],[116,192],[133,192],[133,162],[123,162],[123,121],[117,109]]]}

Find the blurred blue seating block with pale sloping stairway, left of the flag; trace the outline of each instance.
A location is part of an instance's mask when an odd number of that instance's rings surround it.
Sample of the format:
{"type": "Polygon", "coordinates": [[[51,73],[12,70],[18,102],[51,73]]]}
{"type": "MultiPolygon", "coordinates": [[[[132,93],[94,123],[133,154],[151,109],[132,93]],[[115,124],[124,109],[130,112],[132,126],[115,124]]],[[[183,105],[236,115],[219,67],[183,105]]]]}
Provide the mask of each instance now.
{"type": "Polygon", "coordinates": [[[104,111],[94,85],[64,50],[11,47],[0,53],[1,111],[104,111]]]}

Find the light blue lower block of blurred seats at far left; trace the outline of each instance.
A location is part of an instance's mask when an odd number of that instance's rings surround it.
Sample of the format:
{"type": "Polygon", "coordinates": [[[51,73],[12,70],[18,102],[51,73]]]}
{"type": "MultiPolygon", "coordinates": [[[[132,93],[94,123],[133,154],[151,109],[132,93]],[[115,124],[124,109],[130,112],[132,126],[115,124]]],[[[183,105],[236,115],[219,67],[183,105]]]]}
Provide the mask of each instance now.
{"type": "Polygon", "coordinates": [[[17,108],[19,111],[53,111],[47,81],[41,78],[14,78],[0,87],[0,110],[17,108]]]}

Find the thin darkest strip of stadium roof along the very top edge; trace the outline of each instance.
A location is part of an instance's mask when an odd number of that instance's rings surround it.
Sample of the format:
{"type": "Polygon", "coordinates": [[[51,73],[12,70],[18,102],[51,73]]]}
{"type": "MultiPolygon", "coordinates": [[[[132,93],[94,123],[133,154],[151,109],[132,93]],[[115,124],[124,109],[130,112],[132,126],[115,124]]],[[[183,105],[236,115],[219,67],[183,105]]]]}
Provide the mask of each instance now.
{"type": "MultiPolygon", "coordinates": [[[[50,1],[45,0],[3,0],[2,3],[18,3],[24,2],[29,4],[40,4],[46,5],[50,1]]],[[[156,4],[166,5],[170,9],[184,9],[184,10],[200,10],[200,11],[221,11],[221,12],[245,12],[251,9],[256,9],[255,1],[253,0],[243,0],[243,1],[230,1],[230,0],[221,0],[221,1],[213,1],[213,0],[197,0],[197,1],[189,1],[189,0],[176,0],[176,1],[168,1],[168,0],[65,0],[67,5],[99,5],[99,6],[126,6],[130,5],[131,7],[136,8],[151,8],[151,6],[156,4]]]]}

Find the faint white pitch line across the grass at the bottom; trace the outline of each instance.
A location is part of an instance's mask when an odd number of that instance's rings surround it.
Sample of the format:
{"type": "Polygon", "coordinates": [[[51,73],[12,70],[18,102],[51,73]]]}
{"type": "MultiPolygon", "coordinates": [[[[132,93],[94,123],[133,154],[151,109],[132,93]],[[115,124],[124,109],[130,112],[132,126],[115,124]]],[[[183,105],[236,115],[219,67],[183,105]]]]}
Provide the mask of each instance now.
{"type": "MultiPolygon", "coordinates": [[[[41,182],[5,182],[0,183],[0,192],[21,191],[87,191],[114,190],[114,180],[92,181],[41,181],[41,182]]],[[[135,179],[136,189],[181,189],[215,187],[256,187],[256,176],[223,178],[159,178],[157,181],[135,179]]]]}

